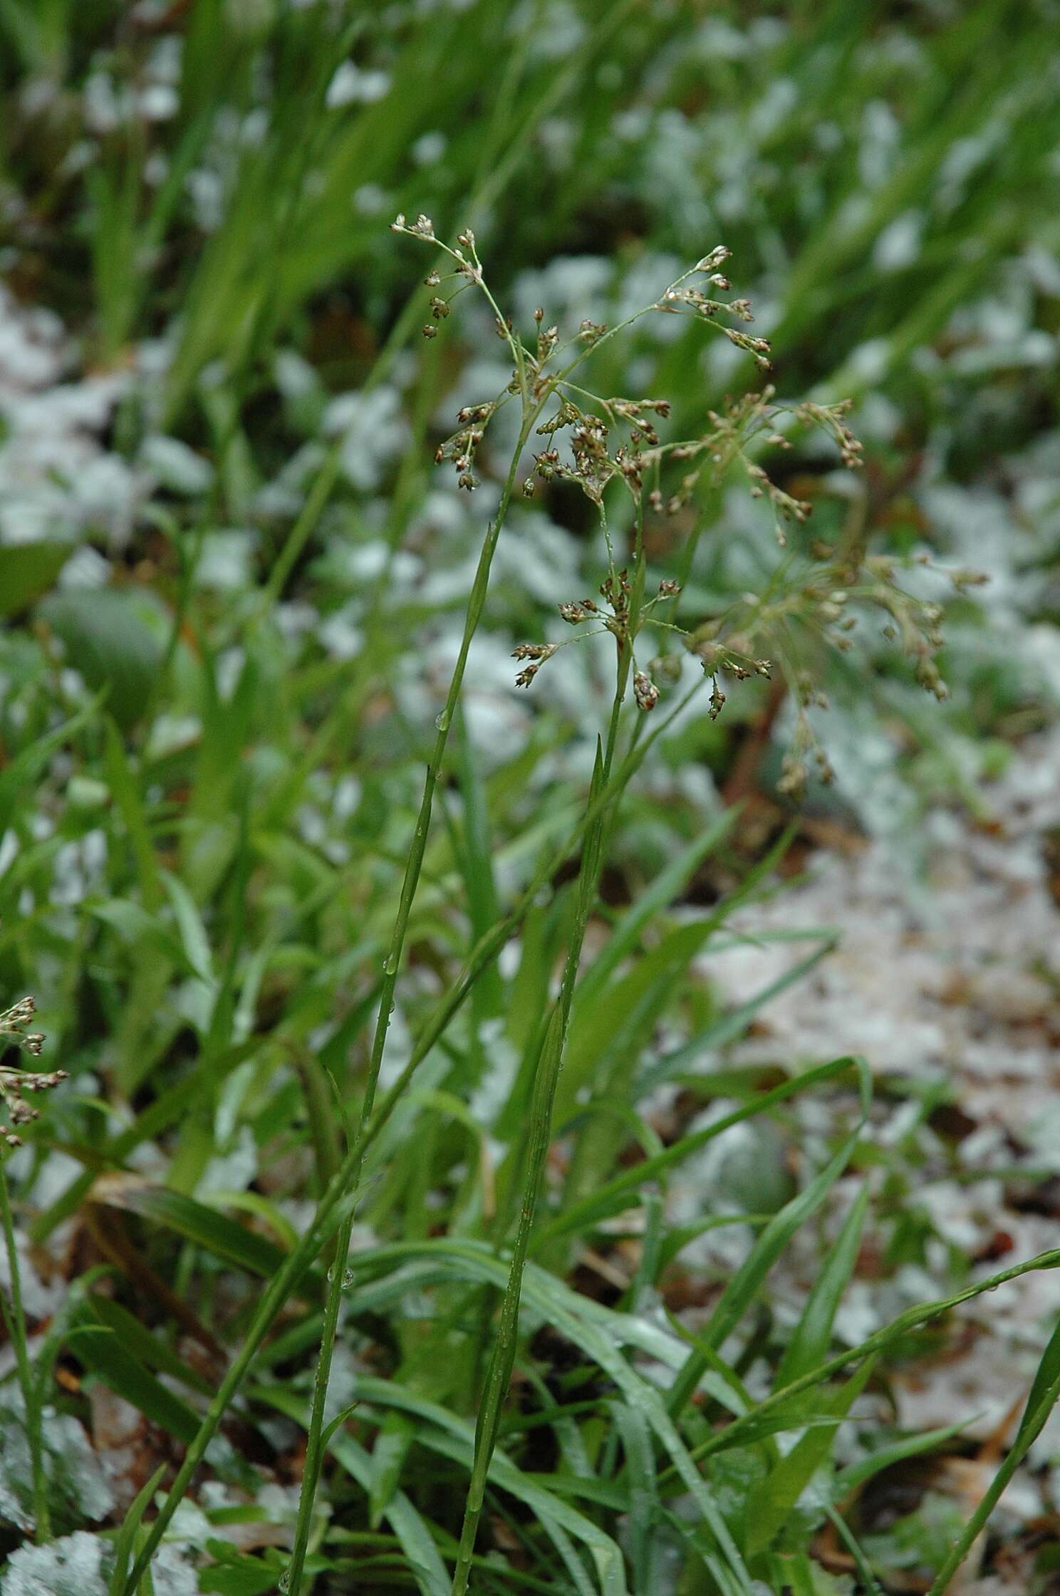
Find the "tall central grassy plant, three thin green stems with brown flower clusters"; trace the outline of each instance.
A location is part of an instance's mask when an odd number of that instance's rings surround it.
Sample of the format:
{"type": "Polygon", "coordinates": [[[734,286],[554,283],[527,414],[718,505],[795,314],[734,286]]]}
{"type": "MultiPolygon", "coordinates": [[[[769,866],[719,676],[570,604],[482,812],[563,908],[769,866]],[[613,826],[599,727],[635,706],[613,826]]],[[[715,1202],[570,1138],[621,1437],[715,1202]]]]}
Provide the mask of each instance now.
{"type": "MultiPolygon", "coordinates": [[[[562,977],[556,996],[540,1017],[528,1060],[530,1114],[512,1186],[511,1232],[496,1237],[506,1258],[506,1282],[481,1382],[469,1486],[455,1555],[452,1590],[453,1596],[463,1596],[476,1556],[487,1479],[516,1361],[527,1258],[544,1186],[572,1009],[583,978],[586,930],[595,908],[600,873],[615,833],[623,792],[658,736],[672,725],[704,685],[710,688],[709,713],[717,717],[726,696],[723,683],[768,678],[773,674],[785,678],[797,705],[797,734],[785,760],[782,787],[797,793],[808,777],[811,763],[816,763],[819,776],[827,780],[830,774],[827,757],[806,715],[808,707],[822,701],[813,662],[822,645],[849,650],[851,632],[865,610],[883,614],[888,635],[897,638],[910,654],[923,685],[939,696],[945,691],[934,661],[939,646],[937,606],[910,595],[896,579],[899,562],[870,554],[857,530],[849,535],[840,533],[832,541],[816,541],[809,536],[806,522],[811,504],[787,493],[760,464],[765,452],[790,447],[793,429],[816,428],[832,440],[843,463],[856,468],[859,444],[846,425],[846,405],[785,404],[766,383],[761,391],[728,404],[720,412],[709,412],[701,436],[667,440],[659,433],[670,413],[666,399],[605,396],[589,386],[594,356],[611,338],[650,313],[693,318],[747,353],[760,369],[768,370],[768,342],[747,330],[753,319],[749,302],[730,297],[731,284],[723,271],[728,249],[717,246],[709,251],[664,287],[655,302],[615,327],[584,321],[573,337],[564,338],[556,326],[548,324],[544,310],[538,310],[533,318],[535,332],[525,338],[495,298],[469,228],[449,244],[436,235],[425,215],[415,222],[399,215],[393,227],[394,231],[437,251],[437,265],[433,265],[425,279],[431,290],[431,319],[423,327],[425,337],[434,338],[452,313],[452,302],[465,290],[471,290],[484,297],[496,334],[511,358],[511,377],[504,389],[460,410],[457,428],[439,445],[436,461],[450,464],[460,488],[474,492],[479,480],[476,474],[479,455],[485,452],[487,433],[501,412],[514,409],[516,439],[503,474],[500,501],[482,539],[457,661],[436,720],[398,913],[382,969],[359,1111],[353,1120],[346,1152],[318,1202],[308,1231],[287,1253],[257,1306],[244,1342],[220,1381],[166,1499],[144,1535],[125,1583],[126,1596],[137,1590],[176,1507],[279,1312],[299,1290],[313,1261],[326,1251],[330,1269],[308,1416],[299,1518],[283,1582],[291,1596],[303,1588],[314,1495],[324,1451],[337,1427],[335,1420],[326,1424],[326,1400],[343,1293],[351,1283],[346,1258],[354,1210],[362,1195],[366,1157],[405,1096],[417,1068],[444,1036],[476,982],[492,966],[528,911],[536,892],[552,879],[562,862],[576,852],[579,865],[562,977]],[[741,595],[722,611],[709,616],[686,614],[682,610],[683,578],[691,570],[701,530],[701,522],[694,519],[701,488],[718,487],[734,474],[746,479],[752,496],[771,506],[779,547],[776,568],[761,591],[741,595]],[[611,707],[597,739],[584,812],[562,847],[541,860],[512,910],[476,943],[415,1039],[398,1080],[377,1101],[394,993],[423,873],[436,793],[445,768],[450,729],[458,715],[471,643],[484,614],[493,555],[512,504],[524,496],[533,498],[538,484],[556,479],[575,484],[594,506],[600,522],[605,571],[599,595],[557,598],[559,616],[572,627],[567,642],[610,637],[608,646],[613,650],[611,707]],[[618,516],[610,508],[615,493],[619,495],[618,516]],[[645,539],[648,517],[670,517],[680,525],[686,522],[690,511],[694,531],[685,541],[678,568],[682,579],[650,578],[645,539]],[[674,693],[686,656],[698,662],[701,674],[691,688],[674,693]],[[672,693],[675,702],[666,704],[664,699],[672,693]]],[[[520,643],[514,651],[519,664],[517,685],[530,688],[564,646],[567,645],[557,642],[520,643]]],[[[677,1381],[678,1400],[672,1403],[675,1417],[691,1396],[704,1368],[704,1355],[690,1353],[677,1381]]],[[[664,1449],[669,1449],[680,1478],[694,1489],[698,1481],[691,1459],[683,1452],[666,1412],[658,1416],[656,1433],[664,1449]]],[[[723,1529],[717,1524],[715,1529],[723,1539],[723,1529]]]]}

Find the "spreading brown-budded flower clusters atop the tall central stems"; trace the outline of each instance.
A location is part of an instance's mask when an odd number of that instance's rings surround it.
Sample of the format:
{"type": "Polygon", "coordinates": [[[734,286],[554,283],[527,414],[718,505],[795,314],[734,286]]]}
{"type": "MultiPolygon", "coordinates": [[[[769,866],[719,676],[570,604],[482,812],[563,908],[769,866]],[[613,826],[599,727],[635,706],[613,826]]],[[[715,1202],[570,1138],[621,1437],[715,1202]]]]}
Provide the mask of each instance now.
{"type": "MultiPolygon", "coordinates": [[[[398,217],[394,227],[398,231],[428,239],[452,259],[453,271],[449,279],[433,271],[426,279],[429,287],[439,289],[444,281],[455,281],[453,294],[468,284],[485,287],[474,235],[469,230],[461,233],[457,246],[450,249],[436,238],[428,217],[421,215],[415,223],[398,217]]],[[[741,297],[720,297],[731,290],[731,282],[722,270],[728,259],[730,251],[722,244],[717,246],[690,271],[670,282],[653,305],[623,322],[623,327],[650,311],[691,316],[723,334],[739,350],[753,356],[758,367],[768,370],[768,340],[744,330],[753,321],[750,302],[741,297]]],[[[777,670],[795,704],[795,733],[784,761],[781,790],[798,795],[809,764],[816,764],[822,780],[829,780],[832,774],[806,713],[827,702],[813,670],[806,666],[806,654],[809,651],[813,656],[814,643],[824,642],[840,651],[849,650],[859,614],[875,610],[883,618],[883,638],[896,643],[912,661],[916,680],[935,696],[945,696],[945,683],[935,664],[942,642],[939,634],[942,610],[899,586],[899,570],[910,562],[868,554],[864,536],[824,543],[801,535],[797,546],[789,549],[792,533],[806,527],[813,503],[789,493],[758,460],[768,450],[790,450],[792,433],[817,431],[837,450],[840,461],[856,469],[862,463],[862,445],[848,425],[849,402],[805,401],[789,405],[777,401],[773,385],[766,385],[758,393],[726,401],[720,410],[709,410],[709,425],[701,436],[664,440],[658,428],[670,417],[667,399],[602,397],[572,380],[575,367],[621,329],[583,321],[578,332],[564,342],[556,326],[546,326],[544,310],[536,310],[533,316],[536,338],[533,345],[524,345],[492,297],[490,305],[496,316],[496,332],[508,342],[514,356],[511,381],[496,399],[460,412],[458,429],[439,445],[436,460],[439,464],[452,461],[460,487],[473,488],[476,453],[488,423],[508,397],[525,393],[546,412],[535,428],[543,447],[533,453],[533,472],[524,480],[524,495],[532,496],[536,482],[575,484],[600,514],[610,567],[600,587],[603,603],[595,598],[565,600],[559,605],[559,613],[573,627],[583,622],[591,626],[589,630],[578,634],[579,637],[610,632],[619,650],[631,650],[632,696],[640,710],[655,709],[661,691],[680,675],[678,659],[667,653],[656,654],[647,669],[637,666],[635,643],[645,627],[662,627],[666,634],[678,634],[691,654],[701,661],[712,683],[710,717],[722,712],[726,699],[720,678],[728,675],[739,681],[749,677],[769,677],[777,670]],[[674,476],[674,468],[677,468],[675,479],[664,490],[664,476],[674,476]],[[667,517],[682,516],[694,503],[701,487],[717,487],[733,472],[742,474],[752,498],[769,504],[777,544],[785,551],[765,592],[744,595],[720,613],[683,626],[677,616],[682,589],[675,581],[662,581],[655,597],[631,605],[629,576],[626,570],[615,567],[607,530],[603,514],[607,488],[613,482],[624,485],[640,523],[645,511],[667,517]]],[[[449,300],[434,295],[431,313],[434,322],[423,329],[426,335],[433,335],[437,321],[449,314],[449,300]]],[[[926,563],[923,555],[916,559],[926,563]]],[[[974,571],[955,571],[951,579],[961,589],[979,581],[979,576],[974,571]]],[[[520,643],[514,651],[522,667],[516,685],[528,688],[560,646],[564,645],[520,643]]]]}

